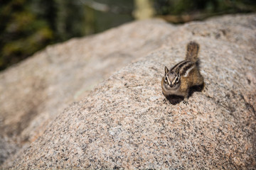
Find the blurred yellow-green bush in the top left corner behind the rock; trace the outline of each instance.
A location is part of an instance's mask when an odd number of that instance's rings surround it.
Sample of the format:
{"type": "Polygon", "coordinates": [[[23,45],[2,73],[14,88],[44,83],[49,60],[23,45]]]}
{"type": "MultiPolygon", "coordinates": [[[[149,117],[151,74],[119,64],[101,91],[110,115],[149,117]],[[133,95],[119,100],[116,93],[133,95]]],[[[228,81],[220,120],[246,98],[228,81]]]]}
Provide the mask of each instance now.
{"type": "Polygon", "coordinates": [[[53,40],[53,30],[25,0],[1,1],[0,69],[31,55],[53,40]]]}

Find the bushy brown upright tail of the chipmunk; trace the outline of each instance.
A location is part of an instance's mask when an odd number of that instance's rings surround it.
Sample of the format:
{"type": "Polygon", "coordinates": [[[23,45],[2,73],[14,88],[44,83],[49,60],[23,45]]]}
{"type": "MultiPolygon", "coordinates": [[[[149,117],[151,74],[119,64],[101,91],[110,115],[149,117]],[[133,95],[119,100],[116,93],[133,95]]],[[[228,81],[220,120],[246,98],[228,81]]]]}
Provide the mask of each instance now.
{"type": "Polygon", "coordinates": [[[188,42],[186,60],[190,60],[191,62],[197,62],[199,47],[200,46],[198,45],[197,42],[194,42],[194,41],[188,42]]]}

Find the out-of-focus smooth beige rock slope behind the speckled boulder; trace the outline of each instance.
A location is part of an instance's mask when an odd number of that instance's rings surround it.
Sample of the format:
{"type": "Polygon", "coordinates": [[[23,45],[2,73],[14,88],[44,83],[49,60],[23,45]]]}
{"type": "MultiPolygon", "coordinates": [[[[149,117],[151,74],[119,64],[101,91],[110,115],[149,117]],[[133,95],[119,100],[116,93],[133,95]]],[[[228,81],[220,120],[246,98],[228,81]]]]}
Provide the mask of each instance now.
{"type": "MultiPolygon", "coordinates": [[[[58,113],[84,98],[100,81],[159,48],[165,32],[163,21],[127,24],[49,46],[1,72],[0,138],[11,141],[10,148],[14,149],[0,152],[0,164],[9,154],[35,141],[58,113]]],[[[0,142],[0,148],[8,144],[0,142]]]]}

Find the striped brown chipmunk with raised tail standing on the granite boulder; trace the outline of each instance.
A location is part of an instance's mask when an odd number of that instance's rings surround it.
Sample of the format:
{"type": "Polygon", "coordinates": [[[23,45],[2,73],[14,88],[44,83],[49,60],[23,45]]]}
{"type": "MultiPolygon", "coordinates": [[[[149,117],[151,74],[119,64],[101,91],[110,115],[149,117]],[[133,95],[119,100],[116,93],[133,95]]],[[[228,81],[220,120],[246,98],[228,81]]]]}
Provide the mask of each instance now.
{"type": "Polygon", "coordinates": [[[164,67],[165,74],[161,80],[164,96],[183,96],[183,103],[187,104],[191,86],[203,85],[203,77],[198,68],[198,50],[198,43],[191,41],[187,45],[185,60],[170,70],[164,67]]]}

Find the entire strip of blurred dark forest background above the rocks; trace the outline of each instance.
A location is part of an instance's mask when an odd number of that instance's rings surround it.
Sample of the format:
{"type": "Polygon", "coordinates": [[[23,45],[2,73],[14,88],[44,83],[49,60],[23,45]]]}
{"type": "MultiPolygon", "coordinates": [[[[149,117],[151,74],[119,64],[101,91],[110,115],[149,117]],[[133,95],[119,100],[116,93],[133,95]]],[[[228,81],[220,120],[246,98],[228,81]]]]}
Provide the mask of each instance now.
{"type": "Polygon", "coordinates": [[[256,11],[255,0],[0,0],[0,70],[46,45],[102,32],[134,19],[171,23],[256,11]]]}

